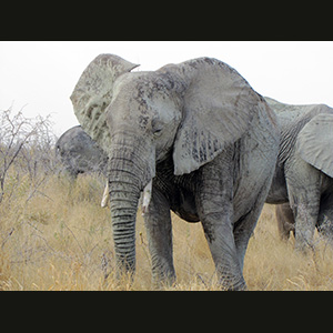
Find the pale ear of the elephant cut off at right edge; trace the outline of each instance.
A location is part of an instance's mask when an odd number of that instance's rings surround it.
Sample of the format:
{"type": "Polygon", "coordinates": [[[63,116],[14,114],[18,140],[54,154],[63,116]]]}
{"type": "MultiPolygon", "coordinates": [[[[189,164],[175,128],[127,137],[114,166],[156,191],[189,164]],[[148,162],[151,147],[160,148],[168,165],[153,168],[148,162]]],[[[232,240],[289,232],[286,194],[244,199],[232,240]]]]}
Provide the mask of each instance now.
{"type": "Polygon", "coordinates": [[[333,178],[333,113],[317,114],[304,125],[296,151],[305,162],[333,178]]]}

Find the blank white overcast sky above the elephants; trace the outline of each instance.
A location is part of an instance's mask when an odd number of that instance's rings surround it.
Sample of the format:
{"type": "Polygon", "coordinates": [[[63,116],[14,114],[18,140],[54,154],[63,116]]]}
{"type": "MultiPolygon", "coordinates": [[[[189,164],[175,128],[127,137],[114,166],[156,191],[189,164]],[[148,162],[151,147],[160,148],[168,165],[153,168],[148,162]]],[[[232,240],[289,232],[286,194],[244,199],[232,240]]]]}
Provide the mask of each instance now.
{"type": "Polygon", "coordinates": [[[281,102],[333,107],[333,42],[295,41],[0,41],[0,110],[51,114],[60,135],[78,124],[69,99],[82,71],[100,53],[138,70],[157,70],[198,57],[236,69],[262,95],[281,102]]]}

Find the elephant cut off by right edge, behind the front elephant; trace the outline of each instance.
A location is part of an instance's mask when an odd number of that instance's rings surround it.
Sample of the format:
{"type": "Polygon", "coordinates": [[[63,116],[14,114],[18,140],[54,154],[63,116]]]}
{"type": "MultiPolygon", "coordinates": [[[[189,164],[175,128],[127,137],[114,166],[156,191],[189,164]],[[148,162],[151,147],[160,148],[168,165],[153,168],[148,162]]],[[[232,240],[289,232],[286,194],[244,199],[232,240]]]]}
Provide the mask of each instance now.
{"type": "Polygon", "coordinates": [[[333,240],[333,109],[265,100],[281,124],[278,164],[266,202],[289,202],[293,219],[287,205],[278,208],[276,214],[295,224],[295,248],[306,252],[313,246],[315,226],[333,240]]]}

